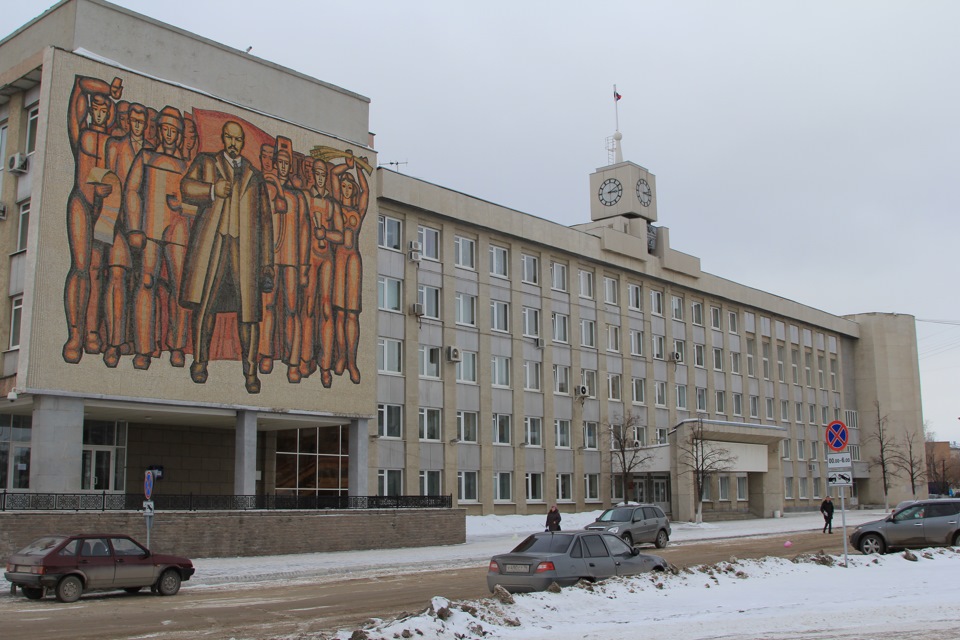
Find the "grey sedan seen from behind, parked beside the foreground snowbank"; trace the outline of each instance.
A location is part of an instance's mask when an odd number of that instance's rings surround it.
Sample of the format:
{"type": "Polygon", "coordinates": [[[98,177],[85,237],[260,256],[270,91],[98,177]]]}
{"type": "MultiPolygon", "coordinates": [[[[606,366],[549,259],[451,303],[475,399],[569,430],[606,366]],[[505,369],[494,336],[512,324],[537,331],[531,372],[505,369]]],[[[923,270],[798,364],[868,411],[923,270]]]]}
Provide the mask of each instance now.
{"type": "Polygon", "coordinates": [[[535,533],[510,553],[493,556],[487,569],[487,587],[507,591],[543,591],[556,582],[561,587],[580,579],[602,580],[664,571],[667,562],[640,553],[608,533],[549,531],[535,533]]]}

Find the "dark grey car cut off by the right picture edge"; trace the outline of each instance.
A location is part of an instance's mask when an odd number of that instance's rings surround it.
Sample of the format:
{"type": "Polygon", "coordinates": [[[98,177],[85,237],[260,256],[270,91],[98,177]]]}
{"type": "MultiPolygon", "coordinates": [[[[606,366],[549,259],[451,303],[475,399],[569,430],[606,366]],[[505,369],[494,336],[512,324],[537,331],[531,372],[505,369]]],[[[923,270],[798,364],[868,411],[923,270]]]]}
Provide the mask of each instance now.
{"type": "Polygon", "coordinates": [[[919,500],[883,520],[860,525],[850,544],[862,553],[892,549],[960,546],[960,500],[919,500]]]}

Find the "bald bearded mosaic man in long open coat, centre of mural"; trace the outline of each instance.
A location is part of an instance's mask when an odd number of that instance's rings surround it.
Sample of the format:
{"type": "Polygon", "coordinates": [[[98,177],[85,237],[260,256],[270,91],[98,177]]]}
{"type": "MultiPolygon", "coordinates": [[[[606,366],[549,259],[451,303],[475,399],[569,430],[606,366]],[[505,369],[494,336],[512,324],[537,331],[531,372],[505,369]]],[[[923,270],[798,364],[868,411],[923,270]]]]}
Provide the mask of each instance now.
{"type": "Polygon", "coordinates": [[[183,202],[196,206],[180,302],[193,309],[190,378],[207,381],[210,342],[217,314],[237,314],[243,375],[248,393],[257,377],[261,295],[273,290],[273,229],[262,174],[243,157],[243,127],[223,125],[219,153],[201,153],[180,183],[183,202]]]}

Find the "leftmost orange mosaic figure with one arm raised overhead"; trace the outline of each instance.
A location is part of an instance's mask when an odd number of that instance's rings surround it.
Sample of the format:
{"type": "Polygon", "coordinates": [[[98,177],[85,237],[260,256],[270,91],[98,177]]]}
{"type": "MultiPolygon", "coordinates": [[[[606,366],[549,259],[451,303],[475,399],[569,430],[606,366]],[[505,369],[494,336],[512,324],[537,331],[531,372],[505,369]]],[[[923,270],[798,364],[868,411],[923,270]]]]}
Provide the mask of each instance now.
{"type": "MultiPolygon", "coordinates": [[[[108,178],[106,145],[114,117],[114,100],[123,93],[120,78],[111,84],[99,78],[77,76],[70,94],[67,112],[67,133],[73,151],[73,190],[67,200],[67,239],[70,246],[70,270],[63,287],[63,307],[68,337],[63,345],[63,359],[80,362],[84,342],[87,350],[99,352],[99,326],[87,326],[88,306],[99,306],[98,296],[91,300],[91,280],[99,278],[103,248],[94,237],[94,226],[111,198],[113,215],[119,215],[120,185],[116,177],[108,178]],[[97,244],[96,251],[94,245],[97,244]],[[94,253],[97,254],[94,264],[94,253]]],[[[112,237],[112,233],[111,233],[112,237]]],[[[99,291],[99,288],[97,289],[99,291]]],[[[94,317],[96,313],[93,314],[94,317]]]]}

